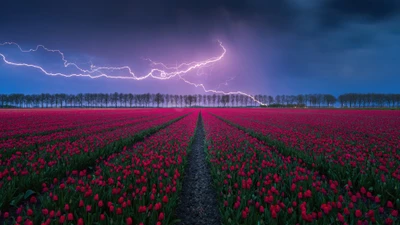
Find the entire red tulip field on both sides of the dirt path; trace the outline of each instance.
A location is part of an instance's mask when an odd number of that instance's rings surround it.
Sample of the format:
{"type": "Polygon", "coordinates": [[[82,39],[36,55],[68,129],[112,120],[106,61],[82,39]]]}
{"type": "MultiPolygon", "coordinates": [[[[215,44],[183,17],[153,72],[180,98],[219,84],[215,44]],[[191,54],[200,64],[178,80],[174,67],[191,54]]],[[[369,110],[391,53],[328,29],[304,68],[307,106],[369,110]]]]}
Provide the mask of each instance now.
{"type": "Polygon", "coordinates": [[[199,127],[220,224],[400,224],[400,111],[228,108],[0,110],[0,224],[180,224],[199,127]]]}

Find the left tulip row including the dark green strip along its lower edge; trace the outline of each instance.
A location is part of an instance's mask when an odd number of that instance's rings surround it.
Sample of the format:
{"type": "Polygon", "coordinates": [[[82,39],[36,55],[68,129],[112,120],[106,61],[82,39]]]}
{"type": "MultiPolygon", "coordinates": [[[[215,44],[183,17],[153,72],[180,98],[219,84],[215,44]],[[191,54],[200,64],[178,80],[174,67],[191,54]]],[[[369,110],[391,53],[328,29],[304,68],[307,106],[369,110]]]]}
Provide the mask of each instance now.
{"type": "Polygon", "coordinates": [[[156,120],[122,126],[116,130],[85,136],[73,142],[58,142],[39,147],[37,151],[14,154],[2,163],[0,172],[0,209],[17,205],[28,190],[38,192],[43,182],[62,178],[67,171],[87,168],[99,157],[118,152],[123,146],[183,117],[187,112],[177,112],[156,120]]]}

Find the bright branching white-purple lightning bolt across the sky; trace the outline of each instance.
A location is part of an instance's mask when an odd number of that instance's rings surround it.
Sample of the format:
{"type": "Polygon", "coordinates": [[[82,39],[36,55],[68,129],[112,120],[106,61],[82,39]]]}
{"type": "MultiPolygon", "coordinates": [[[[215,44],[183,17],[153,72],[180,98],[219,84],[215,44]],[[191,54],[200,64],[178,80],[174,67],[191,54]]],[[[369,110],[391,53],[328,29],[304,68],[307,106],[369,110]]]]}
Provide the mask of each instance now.
{"type": "Polygon", "coordinates": [[[126,80],[145,80],[147,78],[154,78],[158,80],[168,80],[174,77],[178,77],[185,83],[195,86],[195,87],[201,87],[204,92],[206,93],[215,93],[215,94],[224,94],[224,95],[234,95],[234,94],[240,94],[249,97],[253,101],[265,105],[264,103],[258,101],[255,99],[254,96],[244,93],[242,91],[232,91],[232,92],[224,92],[224,91],[219,91],[219,90],[213,90],[213,89],[207,89],[204,84],[198,84],[198,83],[193,83],[190,82],[189,80],[185,79],[183,76],[187,75],[189,72],[197,70],[197,75],[202,75],[203,72],[199,74],[199,69],[205,68],[205,67],[211,67],[213,66],[214,63],[222,60],[222,58],[226,54],[226,48],[222,45],[222,42],[218,41],[219,46],[222,49],[222,53],[219,56],[212,57],[209,59],[206,59],[204,61],[193,61],[189,63],[181,63],[176,66],[167,66],[164,63],[160,62],[154,62],[151,59],[145,59],[151,62],[151,65],[153,67],[158,67],[158,68],[153,68],[150,70],[145,75],[142,76],[136,76],[135,73],[132,72],[132,69],[129,66],[120,66],[120,67],[107,67],[107,66],[94,66],[92,63],[90,64],[90,69],[83,69],[79,67],[76,63],[71,63],[68,62],[68,60],[65,58],[65,54],[58,50],[58,49],[49,49],[45,47],[44,45],[37,45],[36,48],[34,49],[28,49],[24,50],[21,48],[21,46],[15,42],[4,42],[0,43],[0,46],[5,46],[5,45],[13,45],[16,46],[21,52],[23,53],[31,53],[31,52],[36,52],[39,51],[40,49],[43,49],[47,52],[51,53],[56,53],[60,56],[63,65],[65,68],[67,67],[72,67],[74,69],[77,69],[79,72],[78,73],[70,73],[70,74],[65,74],[61,72],[50,72],[44,69],[42,66],[36,65],[36,64],[29,64],[29,63],[21,63],[21,62],[13,62],[7,59],[7,57],[3,54],[0,53],[0,58],[3,59],[3,61],[12,66],[21,66],[21,67],[30,67],[30,68],[35,68],[43,72],[44,74],[48,76],[63,76],[63,77],[88,77],[91,79],[97,79],[97,78],[108,78],[108,79],[126,79],[126,80]],[[108,75],[104,71],[115,71],[115,70],[120,70],[120,71],[127,71],[129,76],[112,76],[108,75]]]}

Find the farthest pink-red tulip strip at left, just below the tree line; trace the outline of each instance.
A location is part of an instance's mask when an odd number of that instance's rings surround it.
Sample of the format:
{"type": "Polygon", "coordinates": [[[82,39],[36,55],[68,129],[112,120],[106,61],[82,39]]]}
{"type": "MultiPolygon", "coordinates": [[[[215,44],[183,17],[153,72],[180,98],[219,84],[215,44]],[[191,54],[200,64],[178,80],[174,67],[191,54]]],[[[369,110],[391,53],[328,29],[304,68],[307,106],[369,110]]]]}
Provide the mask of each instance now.
{"type": "MultiPolygon", "coordinates": [[[[43,135],[60,130],[150,114],[151,109],[24,109],[0,110],[0,140],[43,135]]],[[[158,110],[162,112],[162,110],[158,110]]],[[[168,111],[168,110],[165,110],[168,111]]]]}

